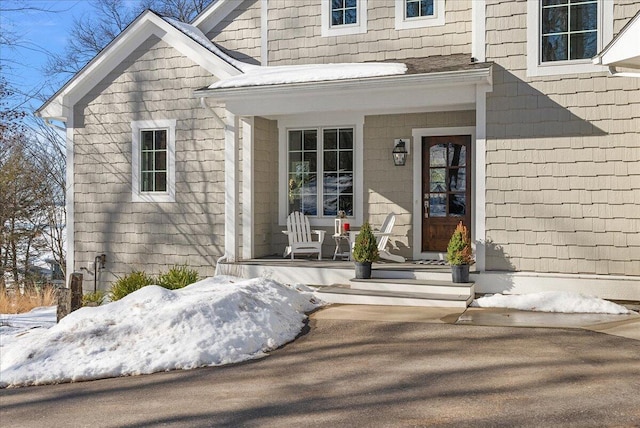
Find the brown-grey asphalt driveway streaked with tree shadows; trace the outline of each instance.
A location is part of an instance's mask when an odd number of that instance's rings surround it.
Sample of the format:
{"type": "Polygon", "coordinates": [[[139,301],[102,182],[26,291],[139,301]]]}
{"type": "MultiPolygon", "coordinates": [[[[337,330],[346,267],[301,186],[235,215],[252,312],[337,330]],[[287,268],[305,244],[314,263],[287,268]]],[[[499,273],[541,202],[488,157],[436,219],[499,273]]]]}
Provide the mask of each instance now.
{"type": "Polygon", "coordinates": [[[640,426],[640,341],[316,316],[228,367],[0,391],[8,427],[640,426]]]}

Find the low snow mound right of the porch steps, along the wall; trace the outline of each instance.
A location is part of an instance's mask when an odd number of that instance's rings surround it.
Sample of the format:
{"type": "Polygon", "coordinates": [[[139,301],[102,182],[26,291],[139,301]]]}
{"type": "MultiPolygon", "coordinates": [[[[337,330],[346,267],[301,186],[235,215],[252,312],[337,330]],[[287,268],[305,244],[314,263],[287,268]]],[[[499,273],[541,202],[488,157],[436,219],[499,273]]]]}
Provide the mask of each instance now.
{"type": "Polygon", "coordinates": [[[523,295],[493,294],[480,297],[471,303],[480,308],[510,308],[523,311],[630,314],[624,306],[597,297],[564,291],[547,291],[523,295]]]}

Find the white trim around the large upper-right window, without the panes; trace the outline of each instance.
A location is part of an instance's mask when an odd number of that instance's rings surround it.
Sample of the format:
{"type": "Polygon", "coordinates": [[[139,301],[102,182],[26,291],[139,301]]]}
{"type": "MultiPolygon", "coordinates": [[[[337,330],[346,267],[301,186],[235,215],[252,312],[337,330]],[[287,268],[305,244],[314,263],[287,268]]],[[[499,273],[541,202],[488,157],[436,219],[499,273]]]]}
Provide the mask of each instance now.
{"type": "MultiPolygon", "coordinates": [[[[598,52],[613,38],[613,0],[598,0],[598,52]]],[[[527,0],[527,76],[597,73],[606,67],[591,58],[552,63],[540,62],[540,0],[527,0]]]]}

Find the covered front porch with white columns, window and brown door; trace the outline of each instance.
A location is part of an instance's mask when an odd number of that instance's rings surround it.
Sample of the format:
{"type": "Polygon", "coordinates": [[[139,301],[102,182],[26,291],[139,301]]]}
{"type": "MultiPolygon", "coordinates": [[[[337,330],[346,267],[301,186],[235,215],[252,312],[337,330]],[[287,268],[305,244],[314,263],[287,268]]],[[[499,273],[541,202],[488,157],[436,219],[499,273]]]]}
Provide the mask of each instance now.
{"type": "MultiPolygon", "coordinates": [[[[352,263],[323,260],[312,267],[304,260],[308,266],[301,267],[277,259],[286,246],[286,218],[294,210],[304,212],[313,228],[327,231],[325,259],[334,253],[331,236],[338,210],[346,211],[353,228],[365,221],[379,226],[388,213],[396,213],[388,248],[407,260],[442,259],[460,220],[468,224],[474,243],[484,240],[485,99],[492,87],[491,64],[473,62],[468,55],[403,63],[407,72],[400,75],[212,85],[196,92],[206,105],[219,107],[212,113],[225,126],[226,268],[241,269],[243,276],[286,272],[286,282],[349,284],[352,263]],[[220,108],[224,118],[216,114],[220,108]],[[399,139],[406,142],[405,166],[393,162],[399,139]],[[455,154],[447,149],[454,146],[455,154]],[[436,152],[442,168],[429,161],[436,152]],[[339,158],[338,166],[330,166],[330,156],[339,158]],[[451,188],[444,178],[429,183],[433,165],[442,169],[442,177],[454,168],[460,188],[451,188]],[[298,167],[308,178],[302,184],[295,182],[298,167]],[[442,221],[445,217],[448,222],[442,221]],[[300,269],[304,275],[298,276],[300,269]]],[[[482,271],[484,251],[481,245],[475,250],[476,268],[482,271]]],[[[427,266],[384,263],[375,266],[374,276],[450,280],[448,267],[427,266]]]]}

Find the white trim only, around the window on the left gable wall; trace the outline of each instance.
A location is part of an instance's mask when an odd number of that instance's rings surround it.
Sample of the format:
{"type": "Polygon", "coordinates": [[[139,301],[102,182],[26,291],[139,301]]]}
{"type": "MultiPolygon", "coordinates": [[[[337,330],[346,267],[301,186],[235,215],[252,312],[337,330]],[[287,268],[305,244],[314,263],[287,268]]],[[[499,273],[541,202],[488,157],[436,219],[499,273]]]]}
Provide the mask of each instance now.
{"type": "Polygon", "coordinates": [[[131,122],[131,200],[132,202],[176,201],[176,120],[137,120],[131,122]],[[167,191],[140,191],[140,131],[167,130],[167,191]]]}

